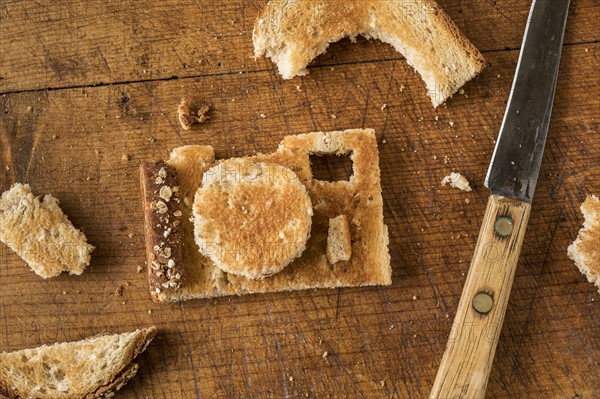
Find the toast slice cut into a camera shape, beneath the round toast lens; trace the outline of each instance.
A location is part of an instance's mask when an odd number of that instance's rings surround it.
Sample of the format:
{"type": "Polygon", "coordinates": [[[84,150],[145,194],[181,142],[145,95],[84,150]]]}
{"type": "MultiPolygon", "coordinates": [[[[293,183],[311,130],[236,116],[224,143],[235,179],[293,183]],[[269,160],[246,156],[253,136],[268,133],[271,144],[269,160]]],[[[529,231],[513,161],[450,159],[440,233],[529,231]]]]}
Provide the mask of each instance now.
{"type": "MultiPolygon", "coordinates": [[[[162,222],[156,222],[157,211],[150,204],[159,198],[160,188],[155,186],[158,177],[156,171],[160,170],[159,165],[164,161],[144,162],[140,167],[150,293],[155,301],[175,302],[225,295],[391,284],[388,231],[383,223],[379,153],[372,129],[287,136],[275,152],[247,159],[284,166],[296,173],[306,187],[313,207],[306,249],[282,271],[263,279],[248,279],[216,267],[210,258],[200,253],[194,241],[192,205],[204,173],[218,161],[214,159],[214,151],[210,146],[176,148],[166,165],[173,173],[173,178],[177,179],[176,183],[170,184],[177,185],[179,202],[169,202],[162,222]],[[351,157],[353,174],[349,180],[329,182],[313,178],[309,156],[326,154],[351,157]],[[179,217],[175,216],[176,212],[180,214],[179,217]],[[326,254],[329,219],[339,215],[345,215],[348,220],[352,255],[348,261],[331,264],[326,254]],[[180,221],[177,226],[181,233],[178,245],[166,242],[162,234],[165,226],[173,220],[180,221]],[[180,268],[181,279],[178,286],[165,288],[165,267],[154,270],[152,262],[157,258],[162,259],[161,251],[164,252],[163,249],[167,247],[171,257],[181,259],[181,263],[175,262],[173,265],[174,268],[180,268]],[[158,277],[157,271],[161,273],[158,277]]],[[[164,264],[164,260],[162,262],[164,264]]]]}

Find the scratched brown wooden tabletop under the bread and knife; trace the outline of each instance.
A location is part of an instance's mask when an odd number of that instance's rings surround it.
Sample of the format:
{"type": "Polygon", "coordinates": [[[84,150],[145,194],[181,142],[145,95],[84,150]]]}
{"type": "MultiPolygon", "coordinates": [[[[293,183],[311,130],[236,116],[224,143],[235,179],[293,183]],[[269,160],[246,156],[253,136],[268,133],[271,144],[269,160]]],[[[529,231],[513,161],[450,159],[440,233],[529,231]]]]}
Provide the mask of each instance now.
{"type": "MultiPolygon", "coordinates": [[[[437,110],[381,42],[333,44],[309,75],[282,80],[252,57],[264,4],[0,2],[0,189],[27,182],[52,193],[97,247],[83,275],[45,281],[0,244],[0,350],[155,324],[117,397],[428,396],[489,194],[529,1],[440,0],[489,65],[437,110]],[[183,131],[182,97],[210,104],[211,119],[183,131]],[[380,142],[391,286],[150,301],[137,272],[141,160],[185,144],[219,157],[269,152],[288,134],[353,127],[374,128],[380,142]],[[474,190],[442,187],[452,171],[474,190]]],[[[600,295],[567,258],[579,204],[600,194],[599,20],[598,0],[572,2],[490,398],[600,397],[600,295]]]]}

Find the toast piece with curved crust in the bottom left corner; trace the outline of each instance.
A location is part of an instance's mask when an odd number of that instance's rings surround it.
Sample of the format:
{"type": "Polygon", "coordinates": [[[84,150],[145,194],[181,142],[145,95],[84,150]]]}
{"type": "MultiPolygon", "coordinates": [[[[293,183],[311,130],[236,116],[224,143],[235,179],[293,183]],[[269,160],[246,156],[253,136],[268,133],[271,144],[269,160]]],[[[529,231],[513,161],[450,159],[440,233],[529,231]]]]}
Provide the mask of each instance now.
{"type": "Polygon", "coordinates": [[[131,378],[132,361],[156,327],[0,353],[0,394],[9,398],[111,398],[131,378]]]}

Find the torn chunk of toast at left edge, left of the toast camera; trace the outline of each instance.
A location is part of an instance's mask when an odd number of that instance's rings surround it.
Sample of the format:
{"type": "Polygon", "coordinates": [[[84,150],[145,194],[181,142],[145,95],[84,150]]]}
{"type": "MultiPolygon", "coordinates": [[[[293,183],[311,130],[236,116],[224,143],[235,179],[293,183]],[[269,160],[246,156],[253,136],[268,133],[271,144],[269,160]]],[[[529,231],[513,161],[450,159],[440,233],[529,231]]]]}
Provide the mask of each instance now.
{"type": "Polygon", "coordinates": [[[0,240],[43,278],[81,274],[94,247],[48,194],[42,201],[28,184],[14,184],[0,198],[0,240]]]}

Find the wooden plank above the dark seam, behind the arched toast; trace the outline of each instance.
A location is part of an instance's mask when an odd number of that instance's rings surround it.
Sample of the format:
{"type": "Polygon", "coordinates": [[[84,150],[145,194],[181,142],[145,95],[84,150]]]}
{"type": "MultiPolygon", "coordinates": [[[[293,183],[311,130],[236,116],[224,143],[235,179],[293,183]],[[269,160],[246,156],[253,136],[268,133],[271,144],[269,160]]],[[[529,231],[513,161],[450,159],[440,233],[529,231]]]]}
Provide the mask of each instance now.
{"type": "MultiPolygon", "coordinates": [[[[265,3],[3,1],[0,93],[271,70],[254,61],[251,38],[265,3]]],[[[439,3],[481,51],[520,47],[529,0],[439,3]]],[[[598,41],[597,2],[572,3],[565,43],[598,41]]],[[[315,65],[398,58],[381,42],[345,40],[315,65]]]]}

